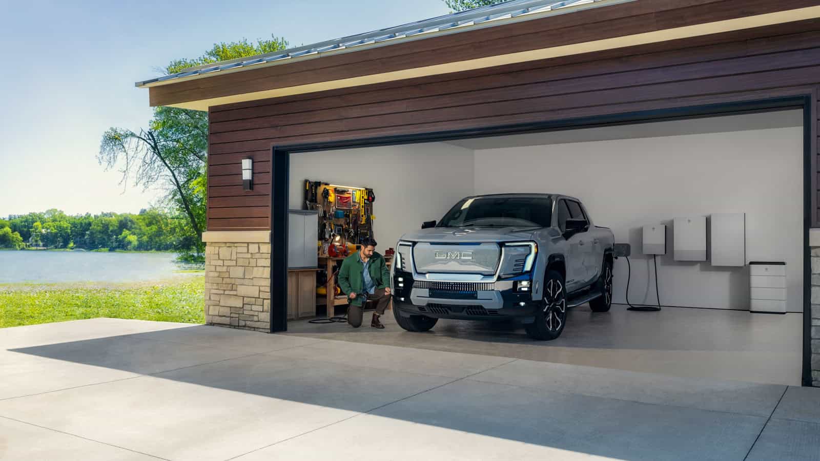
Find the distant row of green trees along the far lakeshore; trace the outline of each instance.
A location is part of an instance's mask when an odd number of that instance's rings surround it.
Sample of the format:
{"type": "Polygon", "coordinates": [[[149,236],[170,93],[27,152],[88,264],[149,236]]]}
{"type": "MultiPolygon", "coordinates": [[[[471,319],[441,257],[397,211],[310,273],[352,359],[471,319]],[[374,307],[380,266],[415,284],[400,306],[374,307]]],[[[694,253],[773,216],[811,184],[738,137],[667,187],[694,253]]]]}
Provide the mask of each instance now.
{"type": "Polygon", "coordinates": [[[0,248],[197,253],[198,244],[187,217],[161,208],[75,216],[51,209],[0,219],[0,248]]]}

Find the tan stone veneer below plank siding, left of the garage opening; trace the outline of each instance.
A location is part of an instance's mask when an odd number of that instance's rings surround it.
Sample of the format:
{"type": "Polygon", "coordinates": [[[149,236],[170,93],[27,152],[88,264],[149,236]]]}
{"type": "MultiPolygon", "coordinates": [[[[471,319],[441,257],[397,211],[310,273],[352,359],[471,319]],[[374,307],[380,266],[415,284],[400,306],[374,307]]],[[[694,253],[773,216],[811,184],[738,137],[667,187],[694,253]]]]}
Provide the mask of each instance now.
{"type": "Polygon", "coordinates": [[[205,323],[271,331],[271,244],[207,242],[205,323]]]}

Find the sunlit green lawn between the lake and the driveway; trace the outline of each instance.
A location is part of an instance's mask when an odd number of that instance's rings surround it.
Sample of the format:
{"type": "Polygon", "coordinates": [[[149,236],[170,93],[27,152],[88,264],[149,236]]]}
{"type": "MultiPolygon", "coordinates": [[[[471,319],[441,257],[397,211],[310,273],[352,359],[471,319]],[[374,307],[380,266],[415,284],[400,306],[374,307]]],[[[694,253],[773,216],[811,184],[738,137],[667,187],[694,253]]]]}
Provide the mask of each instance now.
{"type": "Polygon", "coordinates": [[[205,277],[133,284],[0,285],[0,328],[93,317],[203,323],[205,277]]]}

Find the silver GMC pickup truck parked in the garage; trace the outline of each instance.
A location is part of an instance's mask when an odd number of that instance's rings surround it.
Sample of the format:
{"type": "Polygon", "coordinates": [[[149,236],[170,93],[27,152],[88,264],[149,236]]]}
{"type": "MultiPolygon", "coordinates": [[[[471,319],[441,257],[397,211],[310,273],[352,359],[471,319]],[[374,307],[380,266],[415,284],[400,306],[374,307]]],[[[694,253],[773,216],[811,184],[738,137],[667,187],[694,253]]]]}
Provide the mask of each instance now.
{"type": "Polygon", "coordinates": [[[536,340],[558,338],[567,308],[606,312],[613,293],[612,230],[560,194],[467,197],[438,223],[402,236],[391,268],[399,326],[439,318],[515,317],[536,340]]]}

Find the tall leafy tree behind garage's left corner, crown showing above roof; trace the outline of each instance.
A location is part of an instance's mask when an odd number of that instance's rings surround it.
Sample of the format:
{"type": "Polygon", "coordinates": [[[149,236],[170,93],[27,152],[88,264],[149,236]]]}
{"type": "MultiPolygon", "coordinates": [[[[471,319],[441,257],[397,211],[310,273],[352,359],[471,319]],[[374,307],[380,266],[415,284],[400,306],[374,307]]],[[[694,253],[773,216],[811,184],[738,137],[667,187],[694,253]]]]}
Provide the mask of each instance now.
{"type": "MultiPolygon", "coordinates": [[[[242,39],[216,43],[202,56],[171,62],[164,71],[173,74],[191,66],[256,56],[287,48],[285,39],[273,37],[250,43],[242,39]]],[[[110,128],[103,134],[98,162],[106,169],[120,167],[121,184],[129,179],[145,189],[161,185],[166,203],[179,209],[188,220],[180,230],[188,232],[188,249],[202,253],[207,194],[207,112],[177,107],[156,107],[148,128],[110,128]]]]}

